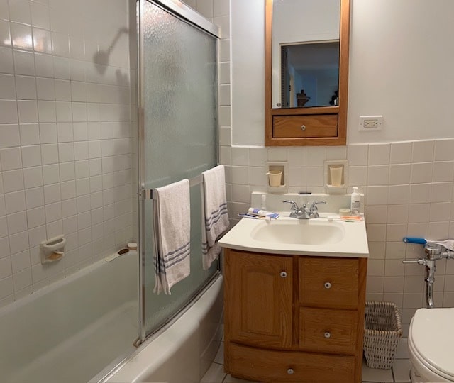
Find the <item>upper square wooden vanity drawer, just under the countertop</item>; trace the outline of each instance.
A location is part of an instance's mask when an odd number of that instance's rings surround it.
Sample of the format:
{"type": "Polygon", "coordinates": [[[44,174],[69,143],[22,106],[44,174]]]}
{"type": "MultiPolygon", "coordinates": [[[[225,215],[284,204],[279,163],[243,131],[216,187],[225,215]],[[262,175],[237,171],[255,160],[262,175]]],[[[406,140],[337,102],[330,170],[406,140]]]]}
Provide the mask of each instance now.
{"type": "Polygon", "coordinates": [[[359,274],[357,258],[300,257],[298,270],[301,305],[357,308],[359,274]]]}

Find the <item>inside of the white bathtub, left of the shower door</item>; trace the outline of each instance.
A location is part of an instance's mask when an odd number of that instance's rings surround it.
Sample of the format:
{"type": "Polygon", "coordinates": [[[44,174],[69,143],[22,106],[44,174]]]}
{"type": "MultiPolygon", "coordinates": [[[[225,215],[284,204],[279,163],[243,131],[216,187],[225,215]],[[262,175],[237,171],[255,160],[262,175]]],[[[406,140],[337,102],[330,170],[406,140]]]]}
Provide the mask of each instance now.
{"type": "Polygon", "coordinates": [[[88,382],[138,338],[138,255],[100,260],[0,309],[0,380],[88,382]]]}

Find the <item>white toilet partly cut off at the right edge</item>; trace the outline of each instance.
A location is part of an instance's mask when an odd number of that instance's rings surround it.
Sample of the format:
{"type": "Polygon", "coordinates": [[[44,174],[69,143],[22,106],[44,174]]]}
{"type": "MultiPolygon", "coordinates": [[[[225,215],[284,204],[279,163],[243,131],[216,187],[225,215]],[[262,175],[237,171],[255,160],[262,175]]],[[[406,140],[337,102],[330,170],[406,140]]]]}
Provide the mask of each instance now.
{"type": "Polygon", "coordinates": [[[409,328],[411,382],[454,382],[454,308],[419,309],[409,328]]]}

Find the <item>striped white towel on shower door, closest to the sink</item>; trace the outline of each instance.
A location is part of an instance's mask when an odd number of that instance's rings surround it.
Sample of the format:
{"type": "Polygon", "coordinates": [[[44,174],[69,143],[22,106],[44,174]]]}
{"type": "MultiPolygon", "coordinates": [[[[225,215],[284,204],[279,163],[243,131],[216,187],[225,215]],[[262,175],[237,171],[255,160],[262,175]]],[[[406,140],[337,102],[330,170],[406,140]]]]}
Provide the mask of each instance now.
{"type": "Polygon", "coordinates": [[[202,230],[201,249],[204,270],[221,252],[217,240],[228,229],[226,174],[223,165],[202,173],[201,186],[202,230]]]}

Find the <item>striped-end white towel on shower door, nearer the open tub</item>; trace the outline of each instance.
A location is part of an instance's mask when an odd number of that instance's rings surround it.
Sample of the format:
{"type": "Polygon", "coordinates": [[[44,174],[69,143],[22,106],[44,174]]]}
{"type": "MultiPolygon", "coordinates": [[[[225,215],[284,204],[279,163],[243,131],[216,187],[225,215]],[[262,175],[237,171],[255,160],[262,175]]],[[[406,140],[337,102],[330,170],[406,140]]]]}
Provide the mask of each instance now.
{"type": "Polygon", "coordinates": [[[189,275],[191,220],[189,180],[155,189],[155,272],[154,292],[170,294],[170,288],[189,275]]]}

